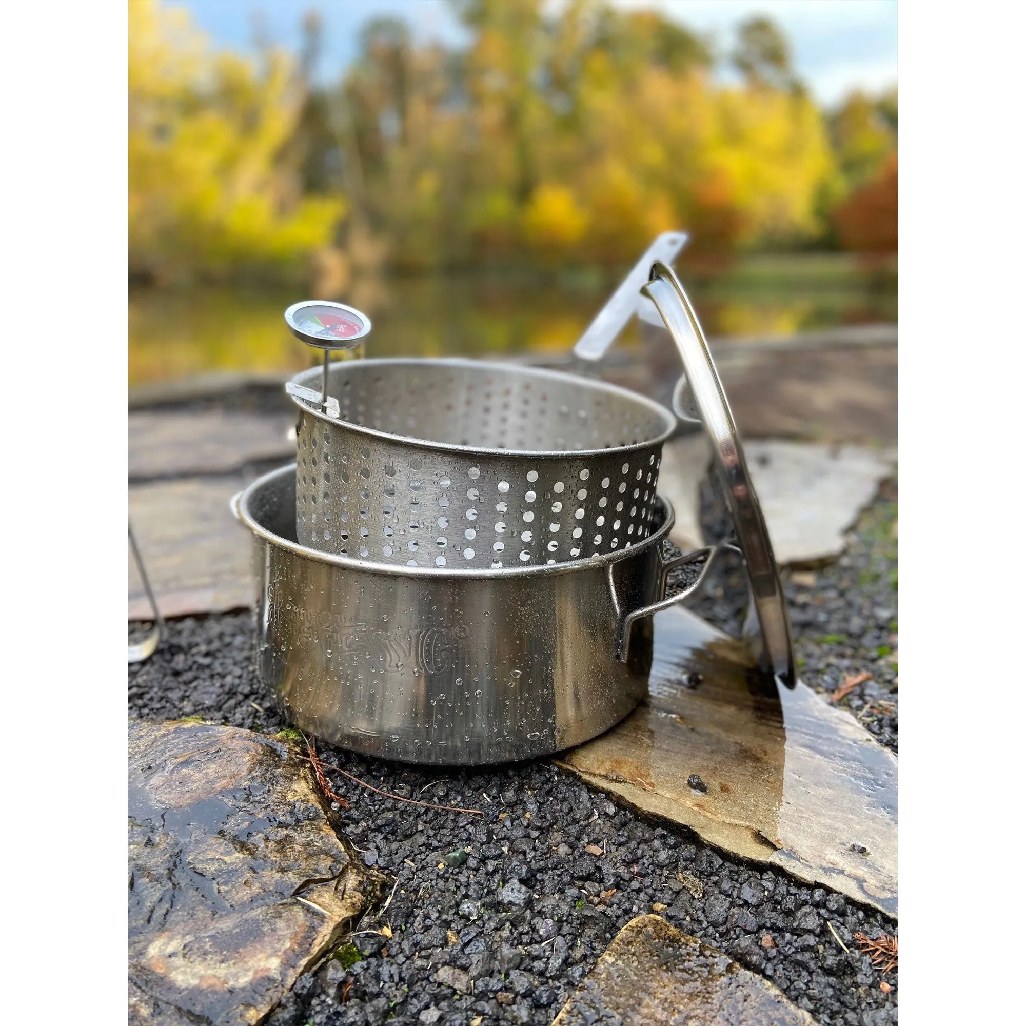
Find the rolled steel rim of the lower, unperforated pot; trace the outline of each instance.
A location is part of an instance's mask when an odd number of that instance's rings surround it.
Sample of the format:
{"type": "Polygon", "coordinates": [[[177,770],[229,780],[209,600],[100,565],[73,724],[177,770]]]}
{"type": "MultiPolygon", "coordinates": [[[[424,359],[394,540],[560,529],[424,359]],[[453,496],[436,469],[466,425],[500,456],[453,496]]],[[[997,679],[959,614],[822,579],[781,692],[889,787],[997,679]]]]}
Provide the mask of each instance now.
{"type": "Polygon", "coordinates": [[[659,545],[664,539],[669,538],[675,520],[673,506],[663,495],[657,492],[656,502],[662,507],[664,521],[654,534],[649,535],[643,542],[632,545],[629,548],[620,549],[617,552],[605,552],[597,556],[588,556],[583,559],[571,559],[560,563],[541,563],[532,566],[503,566],[492,569],[491,567],[463,568],[459,566],[404,566],[401,563],[379,563],[371,559],[358,559],[353,556],[340,556],[332,552],[321,552],[319,549],[311,549],[299,542],[292,542],[287,538],[276,535],[273,530],[265,527],[250,512],[249,504],[258,492],[271,485],[279,478],[287,474],[295,474],[294,463],[285,467],[279,467],[270,473],[256,478],[243,491],[232,501],[232,507],[236,516],[254,535],[264,539],[271,545],[279,549],[287,549],[294,555],[303,556],[305,559],[312,559],[315,562],[328,563],[331,566],[342,566],[346,569],[361,570],[363,573],[381,574],[385,576],[394,575],[396,577],[412,578],[448,578],[452,580],[467,579],[504,579],[518,577],[540,577],[553,576],[557,574],[573,574],[581,570],[589,570],[604,567],[606,565],[627,559],[636,554],[646,552],[652,546],[659,545]]]}

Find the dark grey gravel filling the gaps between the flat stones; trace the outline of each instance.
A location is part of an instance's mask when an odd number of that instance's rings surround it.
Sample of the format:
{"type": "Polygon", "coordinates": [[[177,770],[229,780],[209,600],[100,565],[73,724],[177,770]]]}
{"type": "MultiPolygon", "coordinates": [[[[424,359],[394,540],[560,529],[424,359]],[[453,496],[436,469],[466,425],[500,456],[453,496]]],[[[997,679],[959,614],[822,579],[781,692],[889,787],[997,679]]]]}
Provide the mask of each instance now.
{"type": "MultiPolygon", "coordinates": [[[[885,486],[846,555],[817,570],[815,583],[793,575],[786,583],[802,679],[834,692],[870,672],[840,705],[891,747],[897,670],[881,648],[896,644],[895,501],[885,486]]],[[[705,518],[715,512],[710,499],[705,518]]],[[[740,609],[728,594],[732,573],[714,575],[696,605],[724,626],[740,609]]],[[[128,695],[132,716],[285,725],[256,677],[248,613],[170,623],[153,659],[129,668],[128,695]]],[[[399,802],[329,774],[350,803],[339,811],[343,828],[395,887],[337,959],[301,978],[269,1026],[551,1023],[617,931],[655,906],[765,975],[823,1026],[897,1022],[897,974],[882,992],[853,938],[894,934],[879,912],[724,857],[545,761],[424,771],[327,745],[319,753],[382,790],[483,816],[399,802]],[[391,939],[378,932],[383,925],[391,939]]]]}

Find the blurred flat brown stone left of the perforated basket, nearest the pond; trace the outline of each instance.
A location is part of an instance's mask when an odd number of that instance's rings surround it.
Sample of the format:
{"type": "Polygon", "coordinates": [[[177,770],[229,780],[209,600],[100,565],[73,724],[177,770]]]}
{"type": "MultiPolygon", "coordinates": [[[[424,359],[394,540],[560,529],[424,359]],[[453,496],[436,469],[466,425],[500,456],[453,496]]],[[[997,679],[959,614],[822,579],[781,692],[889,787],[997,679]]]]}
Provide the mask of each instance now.
{"type": "Polygon", "coordinates": [[[294,459],[295,418],[228,410],[128,415],[130,479],[231,474],[250,464],[294,459]]]}

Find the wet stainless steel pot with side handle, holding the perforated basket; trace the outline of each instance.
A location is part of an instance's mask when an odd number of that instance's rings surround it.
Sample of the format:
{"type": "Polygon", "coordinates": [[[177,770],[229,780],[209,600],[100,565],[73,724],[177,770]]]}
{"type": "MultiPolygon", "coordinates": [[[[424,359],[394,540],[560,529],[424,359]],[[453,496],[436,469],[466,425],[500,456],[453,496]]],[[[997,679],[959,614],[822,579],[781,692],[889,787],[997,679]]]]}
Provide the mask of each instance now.
{"type": "MultiPolygon", "coordinates": [[[[260,670],[304,731],[367,755],[480,764],[546,755],[644,695],[673,511],[629,549],[451,569],[373,563],[295,540],[295,466],[235,502],[254,536],[260,670]]],[[[706,562],[708,566],[708,562],[706,562]]]]}

